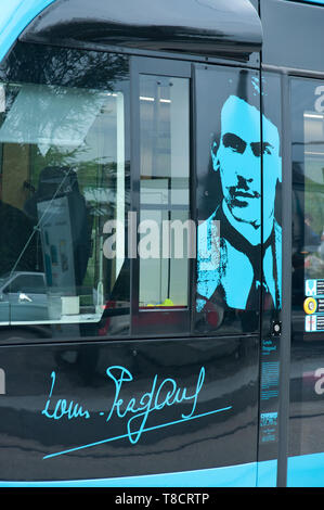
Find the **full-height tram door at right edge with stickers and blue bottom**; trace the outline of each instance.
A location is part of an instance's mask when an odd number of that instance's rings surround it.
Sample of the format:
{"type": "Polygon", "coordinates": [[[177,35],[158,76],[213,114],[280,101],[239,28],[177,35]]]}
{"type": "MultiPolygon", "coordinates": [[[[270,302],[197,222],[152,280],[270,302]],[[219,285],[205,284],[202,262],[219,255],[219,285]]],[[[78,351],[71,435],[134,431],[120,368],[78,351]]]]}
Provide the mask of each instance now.
{"type": "Polygon", "coordinates": [[[323,486],[324,82],[291,78],[289,486],[323,486]]]}

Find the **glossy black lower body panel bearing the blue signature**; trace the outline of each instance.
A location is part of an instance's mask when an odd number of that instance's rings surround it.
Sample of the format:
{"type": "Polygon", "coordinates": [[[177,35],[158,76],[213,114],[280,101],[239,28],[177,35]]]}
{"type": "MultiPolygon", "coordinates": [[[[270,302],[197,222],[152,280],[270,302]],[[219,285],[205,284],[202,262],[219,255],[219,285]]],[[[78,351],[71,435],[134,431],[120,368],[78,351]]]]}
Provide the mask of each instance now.
{"type": "MultiPolygon", "coordinates": [[[[89,480],[256,461],[258,343],[257,337],[224,337],[1,347],[0,480],[89,480]],[[107,421],[116,395],[106,373],[112,366],[125,367],[133,380],[125,372],[119,394],[125,416],[118,418],[115,407],[107,421]],[[154,404],[160,388],[157,404],[166,403],[167,392],[174,390],[171,379],[177,392],[181,388],[179,400],[186,387],[186,401],[169,401],[147,421],[142,415],[129,422],[147,392],[153,391],[154,404]],[[206,416],[182,421],[191,413],[206,416]],[[145,431],[133,435],[132,444],[127,425],[134,432],[141,423],[145,431]],[[57,456],[44,458],[51,455],[57,456]]],[[[142,406],[147,401],[146,395],[142,406]]]]}

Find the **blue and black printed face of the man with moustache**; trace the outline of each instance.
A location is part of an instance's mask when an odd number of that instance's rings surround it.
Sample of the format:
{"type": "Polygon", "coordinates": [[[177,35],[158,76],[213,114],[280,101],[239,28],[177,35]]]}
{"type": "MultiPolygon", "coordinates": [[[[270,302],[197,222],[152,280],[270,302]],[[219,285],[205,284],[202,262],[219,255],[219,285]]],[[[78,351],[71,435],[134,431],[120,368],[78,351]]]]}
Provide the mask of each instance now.
{"type": "Polygon", "coordinates": [[[231,95],[221,113],[220,146],[212,152],[220,170],[224,200],[233,217],[258,228],[261,224],[261,157],[263,155],[263,219],[273,221],[275,187],[281,179],[277,128],[242,99],[231,95]]]}

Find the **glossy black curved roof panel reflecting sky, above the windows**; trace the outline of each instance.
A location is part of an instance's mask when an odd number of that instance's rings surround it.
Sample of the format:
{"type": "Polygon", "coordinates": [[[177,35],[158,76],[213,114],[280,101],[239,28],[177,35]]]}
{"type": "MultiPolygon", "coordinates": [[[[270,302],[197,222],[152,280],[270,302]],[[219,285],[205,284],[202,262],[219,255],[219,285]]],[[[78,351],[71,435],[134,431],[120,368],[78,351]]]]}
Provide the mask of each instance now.
{"type": "Polygon", "coordinates": [[[23,38],[247,58],[260,51],[262,28],[248,0],[59,0],[23,38]]]}

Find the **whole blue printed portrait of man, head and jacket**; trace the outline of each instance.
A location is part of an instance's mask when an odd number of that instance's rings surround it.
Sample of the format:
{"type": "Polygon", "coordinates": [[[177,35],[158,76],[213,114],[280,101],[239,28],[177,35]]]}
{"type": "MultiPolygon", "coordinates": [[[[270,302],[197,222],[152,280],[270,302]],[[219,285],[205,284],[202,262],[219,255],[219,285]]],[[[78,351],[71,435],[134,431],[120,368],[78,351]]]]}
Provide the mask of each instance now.
{"type": "Polygon", "coordinates": [[[222,197],[198,226],[196,310],[207,309],[206,304],[213,299],[222,299],[229,308],[256,310],[261,285],[264,303],[280,309],[282,229],[275,218],[276,187],[282,180],[278,129],[262,115],[261,140],[260,111],[234,94],[224,102],[220,120],[211,162],[212,171],[219,174],[222,197]]]}

